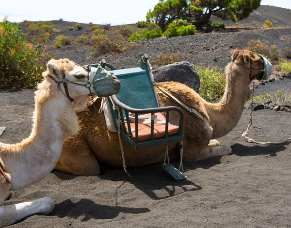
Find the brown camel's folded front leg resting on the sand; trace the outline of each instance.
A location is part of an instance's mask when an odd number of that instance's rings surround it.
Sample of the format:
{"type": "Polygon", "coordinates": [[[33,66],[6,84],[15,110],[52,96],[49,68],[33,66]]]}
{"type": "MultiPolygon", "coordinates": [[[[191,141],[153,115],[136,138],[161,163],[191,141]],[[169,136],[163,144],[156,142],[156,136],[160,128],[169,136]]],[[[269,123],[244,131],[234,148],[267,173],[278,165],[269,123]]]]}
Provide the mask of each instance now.
{"type": "Polygon", "coordinates": [[[195,161],[200,161],[206,158],[213,158],[216,156],[230,155],[231,148],[228,145],[223,146],[207,146],[197,156],[195,161]]]}

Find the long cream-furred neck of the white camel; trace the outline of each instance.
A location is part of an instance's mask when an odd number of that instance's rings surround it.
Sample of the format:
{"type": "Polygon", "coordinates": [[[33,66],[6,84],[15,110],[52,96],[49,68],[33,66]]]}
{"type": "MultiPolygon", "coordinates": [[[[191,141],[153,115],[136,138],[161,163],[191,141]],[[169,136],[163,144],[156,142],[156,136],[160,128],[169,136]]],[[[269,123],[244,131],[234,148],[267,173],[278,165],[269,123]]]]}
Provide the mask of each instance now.
{"type": "MultiPolygon", "coordinates": [[[[2,144],[1,160],[10,175],[11,190],[25,188],[49,175],[60,158],[68,136],[64,122],[76,116],[70,101],[59,93],[36,91],[33,128],[29,138],[17,144],[2,144]],[[43,94],[42,94],[43,95],[43,94]],[[72,113],[70,113],[72,112],[72,113]]],[[[77,117],[75,118],[77,122],[77,117]]],[[[78,125],[78,122],[77,122],[78,125]]]]}

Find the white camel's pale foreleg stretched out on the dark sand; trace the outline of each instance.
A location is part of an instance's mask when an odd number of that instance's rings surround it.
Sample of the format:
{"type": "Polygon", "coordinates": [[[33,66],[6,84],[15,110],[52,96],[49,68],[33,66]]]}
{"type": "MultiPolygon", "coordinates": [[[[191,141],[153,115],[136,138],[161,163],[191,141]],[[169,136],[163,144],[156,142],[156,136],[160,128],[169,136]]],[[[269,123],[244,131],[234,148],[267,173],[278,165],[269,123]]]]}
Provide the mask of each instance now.
{"type": "Polygon", "coordinates": [[[54,202],[49,197],[0,207],[0,227],[5,227],[36,213],[47,215],[52,212],[54,202]]]}

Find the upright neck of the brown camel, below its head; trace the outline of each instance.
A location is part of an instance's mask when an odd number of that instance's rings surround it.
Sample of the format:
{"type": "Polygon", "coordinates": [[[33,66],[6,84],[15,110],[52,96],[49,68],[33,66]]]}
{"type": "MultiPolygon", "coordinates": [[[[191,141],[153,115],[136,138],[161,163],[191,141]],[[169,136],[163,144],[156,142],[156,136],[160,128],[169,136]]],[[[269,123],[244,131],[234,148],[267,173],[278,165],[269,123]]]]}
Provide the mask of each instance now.
{"type": "Polygon", "coordinates": [[[208,103],[207,109],[210,125],[213,128],[212,139],[218,139],[228,134],[239,122],[244,103],[250,95],[249,80],[241,72],[227,75],[225,94],[217,104],[208,103]]]}

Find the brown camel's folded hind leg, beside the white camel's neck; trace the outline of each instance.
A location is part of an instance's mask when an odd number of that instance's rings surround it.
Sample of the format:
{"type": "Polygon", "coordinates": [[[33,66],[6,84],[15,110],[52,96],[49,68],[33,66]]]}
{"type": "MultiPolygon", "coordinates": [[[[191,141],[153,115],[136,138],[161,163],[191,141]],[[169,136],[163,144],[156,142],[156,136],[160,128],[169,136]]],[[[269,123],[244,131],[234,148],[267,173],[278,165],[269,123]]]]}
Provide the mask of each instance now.
{"type": "Polygon", "coordinates": [[[61,157],[55,169],[71,175],[99,175],[97,159],[87,142],[80,136],[65,139],[61,157]]]}

